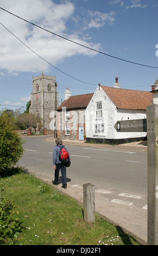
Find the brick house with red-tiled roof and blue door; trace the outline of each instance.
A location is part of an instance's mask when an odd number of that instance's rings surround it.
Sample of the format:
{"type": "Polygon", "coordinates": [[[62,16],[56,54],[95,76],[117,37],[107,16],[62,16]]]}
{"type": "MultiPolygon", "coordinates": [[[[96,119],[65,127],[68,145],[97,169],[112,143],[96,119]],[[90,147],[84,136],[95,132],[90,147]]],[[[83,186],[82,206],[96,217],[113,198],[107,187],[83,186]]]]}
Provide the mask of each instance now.
{"type": "Polygon", "coordinates": [[[58,137],[84,140],[85,109],[92,96],[93,93],[71,96],[69,89],[66,89],[65,100],[57,109],[58,137]]]}

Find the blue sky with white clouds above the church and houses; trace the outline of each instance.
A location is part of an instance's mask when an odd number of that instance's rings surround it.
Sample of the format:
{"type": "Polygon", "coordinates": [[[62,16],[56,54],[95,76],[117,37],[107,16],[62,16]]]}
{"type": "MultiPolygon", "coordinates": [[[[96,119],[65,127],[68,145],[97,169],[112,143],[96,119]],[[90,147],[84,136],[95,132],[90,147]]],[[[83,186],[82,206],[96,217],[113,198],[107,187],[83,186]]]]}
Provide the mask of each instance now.
{"type": "Polygon", "coordinates": [[[25,110],[42,72],[56,77],[59,105],[66,88],[94,93],[118,77],[120,88],[151,91],[158,78],[157,0],[0,0],[0,8],[11,13],[0,9],[0,110],[25,110]]]}

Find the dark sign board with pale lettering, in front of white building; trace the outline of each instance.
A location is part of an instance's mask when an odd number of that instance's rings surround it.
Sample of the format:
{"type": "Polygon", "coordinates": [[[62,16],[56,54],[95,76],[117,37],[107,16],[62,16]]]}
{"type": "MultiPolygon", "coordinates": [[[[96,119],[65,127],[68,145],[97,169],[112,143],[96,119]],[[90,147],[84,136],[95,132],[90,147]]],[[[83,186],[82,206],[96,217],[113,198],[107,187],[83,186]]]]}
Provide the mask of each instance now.
{"type": "Polygon", "coordinates": [[[147,119],[117,121],[114,128],[117,132],[146,132],[147,119]]]}

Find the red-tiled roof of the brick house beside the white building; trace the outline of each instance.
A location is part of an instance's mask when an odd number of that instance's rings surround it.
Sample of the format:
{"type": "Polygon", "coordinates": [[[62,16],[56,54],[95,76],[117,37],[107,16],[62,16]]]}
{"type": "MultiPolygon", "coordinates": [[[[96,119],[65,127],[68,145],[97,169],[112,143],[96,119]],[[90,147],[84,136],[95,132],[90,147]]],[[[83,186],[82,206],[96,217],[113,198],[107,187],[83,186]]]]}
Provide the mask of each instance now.
{"type": "Polygon", "coordinates": [[[73,108],[86,108],[92,99],[93,93],[70,96],[67,100],[63,101],[57,110],[62,110],[62,107],[66,109],[73,108]]]}

